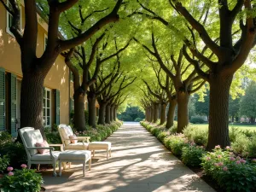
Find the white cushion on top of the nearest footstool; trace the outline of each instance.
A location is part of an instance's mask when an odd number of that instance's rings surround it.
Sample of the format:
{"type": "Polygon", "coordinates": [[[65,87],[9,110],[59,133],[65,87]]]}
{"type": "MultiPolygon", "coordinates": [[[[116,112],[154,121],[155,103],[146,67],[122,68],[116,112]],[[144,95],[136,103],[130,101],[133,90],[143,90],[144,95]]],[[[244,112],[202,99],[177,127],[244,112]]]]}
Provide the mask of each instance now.
{"type": "Polygon", "coordinates": [[[83,151],[64,151],[59,155],[59,160],[90,160],[91,153],[88,150],[83,151]]]}

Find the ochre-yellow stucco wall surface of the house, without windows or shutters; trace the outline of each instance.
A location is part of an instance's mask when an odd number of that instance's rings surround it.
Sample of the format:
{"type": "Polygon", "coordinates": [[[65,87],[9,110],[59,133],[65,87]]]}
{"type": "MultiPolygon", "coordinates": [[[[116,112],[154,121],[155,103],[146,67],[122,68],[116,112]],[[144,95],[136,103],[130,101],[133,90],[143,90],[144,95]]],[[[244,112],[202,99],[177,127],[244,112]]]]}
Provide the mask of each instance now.
{"type": "MultiPolygon", "coordinates": [[[[24,29],[24,9],[22,8],[22,29],[24,29]]],[[[45,25],[45,24],[44,24],[45,25]]],[[[15,38],[6,32],[7,12],[0,3],[0,67],[5,68],[7,72],[15,73],[22,78],[20,65],[20,47],[15,38]]],[[[47,34],[44,27],[38,25],[38,48],[37,55],[44,52],[44,34],[47,34]]],[[[51,67],[44,86],[49,89],[57,89],[61,92],[61,123],[69,123],[69,70],[65,65],[63,57],[60,55],[53,67],[51,67]]]]}

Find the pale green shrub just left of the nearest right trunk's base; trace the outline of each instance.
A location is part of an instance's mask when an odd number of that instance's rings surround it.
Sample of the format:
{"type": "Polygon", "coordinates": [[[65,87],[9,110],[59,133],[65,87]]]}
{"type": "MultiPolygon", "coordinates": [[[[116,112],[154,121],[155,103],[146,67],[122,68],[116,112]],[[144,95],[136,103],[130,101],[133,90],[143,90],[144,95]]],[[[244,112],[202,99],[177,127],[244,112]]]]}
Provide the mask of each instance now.
{"type": "Polygon", "coordinates": [[[189,139],[189,142],[197,145],[207,145],[208,141],[208,130],[197,126],[188,125],[184,130],[183,134],[189,139]]]}

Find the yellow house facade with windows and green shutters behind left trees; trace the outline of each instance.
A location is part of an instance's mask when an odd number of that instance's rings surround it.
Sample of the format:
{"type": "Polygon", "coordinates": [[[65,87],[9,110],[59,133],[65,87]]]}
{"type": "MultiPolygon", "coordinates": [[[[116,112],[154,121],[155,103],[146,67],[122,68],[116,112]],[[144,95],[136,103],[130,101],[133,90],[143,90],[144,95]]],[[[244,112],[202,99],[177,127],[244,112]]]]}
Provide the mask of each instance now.
{"type": "MultiPolygon", "coordinates": [[[[9,3],[7,1],[7,3],[9,3]]],[[[21,6],[21,31],[25,26],[24,7],[21,6]]],[[[47,24],[38,15],[37,55],[44,53],[47,44],[47,24]]],[[[0,3],[0,131],[9,131],[17,136],[20,128],[20,87],[22,80],[20,47],[9,31],[12,15],[0,3]]],[[[69,124],[73,109],[73,82],[64,57],[56,59],[44,79],[44,126],[69,124]]],[[[84,103],[87,109],[87,101],[84,103]]],[[[29,112],[27,112],[29,113],[29,112]]]]}

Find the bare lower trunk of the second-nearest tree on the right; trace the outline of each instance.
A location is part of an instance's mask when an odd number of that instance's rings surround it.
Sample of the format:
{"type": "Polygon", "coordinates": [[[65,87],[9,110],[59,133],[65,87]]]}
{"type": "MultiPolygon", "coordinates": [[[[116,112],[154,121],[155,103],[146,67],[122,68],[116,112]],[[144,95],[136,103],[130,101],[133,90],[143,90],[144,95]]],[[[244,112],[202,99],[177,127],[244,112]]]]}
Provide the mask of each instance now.
{"type": "Polygon", "coordinates": [[[177,133],[183,132],[183,129],[189,125],[189,94],[186,92],[177,92],[177,133]]]}

